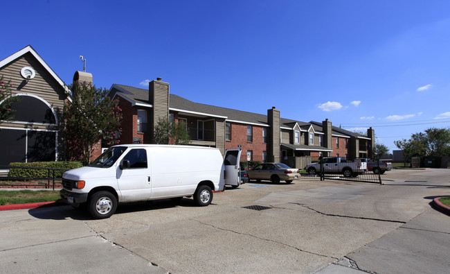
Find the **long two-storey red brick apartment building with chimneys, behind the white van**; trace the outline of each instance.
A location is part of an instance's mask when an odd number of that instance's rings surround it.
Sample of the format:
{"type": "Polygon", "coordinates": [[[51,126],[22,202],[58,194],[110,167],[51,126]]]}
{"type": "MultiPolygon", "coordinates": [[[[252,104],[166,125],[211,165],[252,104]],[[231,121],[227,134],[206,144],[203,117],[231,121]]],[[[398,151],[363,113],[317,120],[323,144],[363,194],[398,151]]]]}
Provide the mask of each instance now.
{"type": "Polygon", "coordinates": [[[123,110],[121,144],[152,144],[154,125],[170,117],[186,123],[190,144],[226,149],[242,148],[241,160],[281,162],[287,157],[370,157],[375,144],[372,128],[367,136],[322,122],[284,119],[275,107],[267,115],[195,103],[170,94],[161,78],[149,89],[114,84],[109,96],[123,110]]]}

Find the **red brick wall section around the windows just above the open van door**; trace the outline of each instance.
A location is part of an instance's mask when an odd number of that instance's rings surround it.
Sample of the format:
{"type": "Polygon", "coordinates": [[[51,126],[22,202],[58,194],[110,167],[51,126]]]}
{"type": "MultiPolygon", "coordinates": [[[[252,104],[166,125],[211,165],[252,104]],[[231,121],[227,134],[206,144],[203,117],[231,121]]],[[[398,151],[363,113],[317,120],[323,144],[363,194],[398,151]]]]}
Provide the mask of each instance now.
{"type": "Polygon", "coordinates": [[[247,160],[247,151],[253,151],[253,160],[262,161],[262,151],[267,151],[267,144],[262,142],[262,127],[252,126],[253,141],[247,142],[247,125],[231,123],[231,141],[226,141],[226,149],[242,146],[241,160],[247,160]]]}

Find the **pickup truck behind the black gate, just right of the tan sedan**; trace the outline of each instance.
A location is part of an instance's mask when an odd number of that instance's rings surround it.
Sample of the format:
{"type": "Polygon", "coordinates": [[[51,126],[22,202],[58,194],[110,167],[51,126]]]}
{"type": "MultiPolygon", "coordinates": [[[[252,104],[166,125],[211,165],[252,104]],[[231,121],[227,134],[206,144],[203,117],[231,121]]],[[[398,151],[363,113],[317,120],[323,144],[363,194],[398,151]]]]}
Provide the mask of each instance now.
{"type": "Polygon", "coordinates": [[[305,170],[310,175],[315,175],[321,172],[321,166],[323,166],[324,173],[342,173],[344,177],[357,177],[367,171],[366,162],[361,162],[361,160],[348,162],[345,158],[339,157],[323,158],[319,162],[308,164],[305,166],[305,170]]]}

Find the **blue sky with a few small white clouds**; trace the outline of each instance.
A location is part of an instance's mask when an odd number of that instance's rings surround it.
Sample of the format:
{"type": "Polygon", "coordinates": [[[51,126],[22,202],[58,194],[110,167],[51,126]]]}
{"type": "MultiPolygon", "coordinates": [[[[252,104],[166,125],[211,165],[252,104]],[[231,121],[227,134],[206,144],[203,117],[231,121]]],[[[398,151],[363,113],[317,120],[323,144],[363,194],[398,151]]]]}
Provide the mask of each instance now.
{"type": "Polygon", "coordinates": [[[375,128],[390,150],[450,126],[450,1],[7,1],[0,60],[28,44],[66,83],[375,128]]]}

